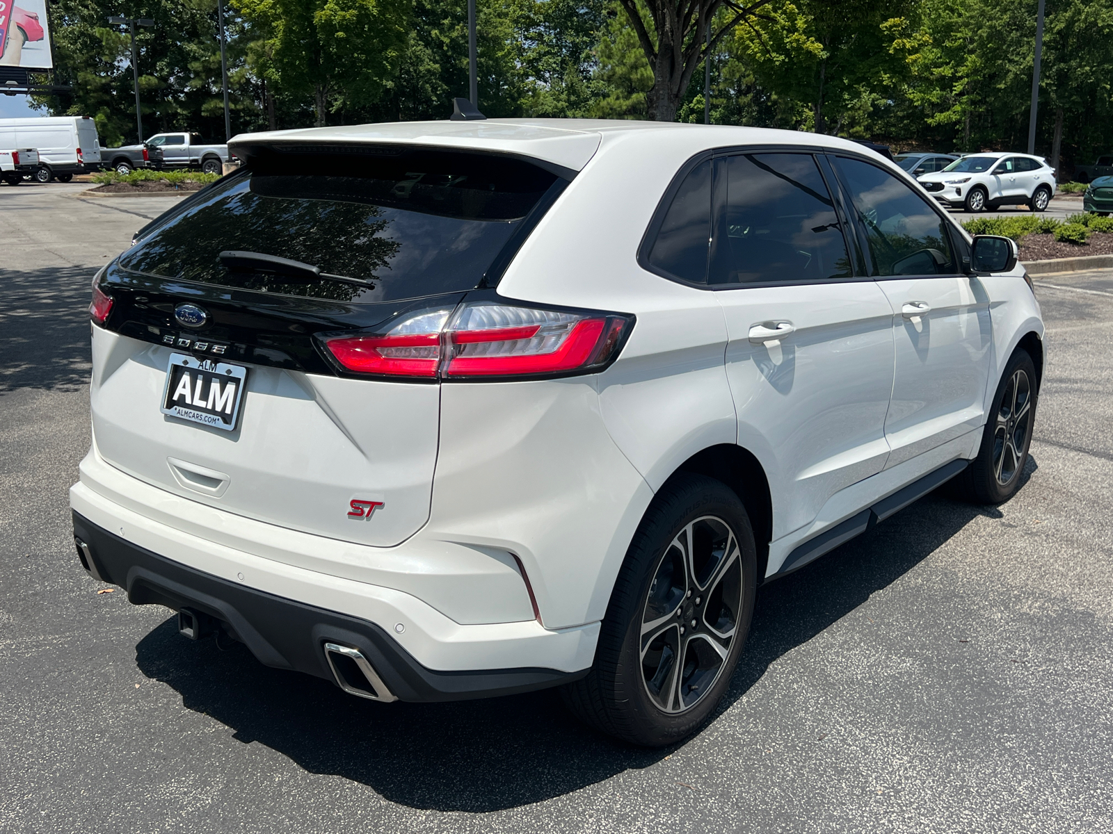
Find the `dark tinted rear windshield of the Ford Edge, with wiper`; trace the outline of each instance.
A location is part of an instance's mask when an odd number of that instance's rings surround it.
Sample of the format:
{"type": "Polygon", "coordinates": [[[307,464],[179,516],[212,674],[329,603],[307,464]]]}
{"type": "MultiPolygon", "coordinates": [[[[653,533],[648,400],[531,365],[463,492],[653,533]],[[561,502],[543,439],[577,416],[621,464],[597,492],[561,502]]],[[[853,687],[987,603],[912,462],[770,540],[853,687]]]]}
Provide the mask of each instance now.
{"type": "Polygon", "coordinates": [[[529,162],[445,151],[370,157],[274,155],[205,199],[120,260],[125,269],[226,287],[377,302],[476,287],[556,177],[529,162]],[[239,250],[370,281],[303,282],[235,271],[239,250]]]}

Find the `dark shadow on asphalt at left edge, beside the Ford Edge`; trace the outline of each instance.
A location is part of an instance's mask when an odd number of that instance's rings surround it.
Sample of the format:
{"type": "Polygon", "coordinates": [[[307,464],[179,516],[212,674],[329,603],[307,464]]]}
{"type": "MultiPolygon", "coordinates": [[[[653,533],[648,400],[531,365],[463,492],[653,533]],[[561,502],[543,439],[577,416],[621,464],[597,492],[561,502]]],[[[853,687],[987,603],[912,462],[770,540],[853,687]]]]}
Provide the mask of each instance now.
{"type": "Polygon", "coordinates": [[[0,277],[0,394],[89,384],[90,285],[96,269],[6,269],[0,277]]]}

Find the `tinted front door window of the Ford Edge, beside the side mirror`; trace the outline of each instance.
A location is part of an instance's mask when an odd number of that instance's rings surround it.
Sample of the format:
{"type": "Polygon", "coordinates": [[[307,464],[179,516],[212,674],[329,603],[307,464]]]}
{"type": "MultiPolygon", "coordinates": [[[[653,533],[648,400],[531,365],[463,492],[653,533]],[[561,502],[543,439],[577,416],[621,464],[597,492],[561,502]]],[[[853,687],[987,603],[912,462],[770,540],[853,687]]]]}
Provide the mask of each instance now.
{"type": "Polygon", "coordinates": [[[954,274],[946,221],[927,202],[868,162],[838,157],[835,165],[865,231],[874,275],[954,274]]]}

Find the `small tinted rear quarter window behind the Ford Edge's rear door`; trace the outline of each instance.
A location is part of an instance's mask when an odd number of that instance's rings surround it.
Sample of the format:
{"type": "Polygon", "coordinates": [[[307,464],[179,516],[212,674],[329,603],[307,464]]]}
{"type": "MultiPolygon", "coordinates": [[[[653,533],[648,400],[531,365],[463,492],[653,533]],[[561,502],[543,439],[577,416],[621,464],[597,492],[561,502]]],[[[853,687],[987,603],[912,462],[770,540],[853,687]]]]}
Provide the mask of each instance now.
{"type": "Polygon", "coordinates": [[[649,254],[649,262],[686,281],[707,280],[711,237],[711,162],[700,162],[672,198],[649,254]]]}

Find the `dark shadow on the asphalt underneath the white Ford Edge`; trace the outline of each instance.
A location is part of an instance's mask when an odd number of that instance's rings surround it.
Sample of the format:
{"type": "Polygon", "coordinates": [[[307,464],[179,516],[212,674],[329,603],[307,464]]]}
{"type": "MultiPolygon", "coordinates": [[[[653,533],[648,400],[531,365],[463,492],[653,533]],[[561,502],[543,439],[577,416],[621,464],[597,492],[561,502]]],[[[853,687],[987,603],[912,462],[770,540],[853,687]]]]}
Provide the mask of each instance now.
{"type": "MultiPolygon", "coordinates": [[[[1023,477],[1035,469],[1030,460],[1023,477]]],[[[821,559],[759,589],[749,645],[719,713],[778,657],[915,568],[979,515],[928,496],[821,559]]],[[[180,637],[167,619],[136,647],[139,669],[176,689],[186,708],[311,773],[370,786],[435,811],[490,812],[560,796],[671,751],[617,742],[578,723],[553,691],[449,704],[375,704],[329,682],[260,665],[240,644],[180,637]]]]}

